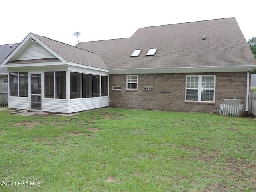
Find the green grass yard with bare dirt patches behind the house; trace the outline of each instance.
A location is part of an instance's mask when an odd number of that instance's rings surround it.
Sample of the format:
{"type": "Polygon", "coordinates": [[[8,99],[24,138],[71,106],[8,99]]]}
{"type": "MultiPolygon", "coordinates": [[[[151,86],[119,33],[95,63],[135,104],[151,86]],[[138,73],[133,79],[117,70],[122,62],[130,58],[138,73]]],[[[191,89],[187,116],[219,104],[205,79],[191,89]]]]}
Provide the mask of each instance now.
{"type": "Polygon", "coordinates": [[[0,117],[1,192],[256,191],[254,118],[119,108],[0,117]]]}

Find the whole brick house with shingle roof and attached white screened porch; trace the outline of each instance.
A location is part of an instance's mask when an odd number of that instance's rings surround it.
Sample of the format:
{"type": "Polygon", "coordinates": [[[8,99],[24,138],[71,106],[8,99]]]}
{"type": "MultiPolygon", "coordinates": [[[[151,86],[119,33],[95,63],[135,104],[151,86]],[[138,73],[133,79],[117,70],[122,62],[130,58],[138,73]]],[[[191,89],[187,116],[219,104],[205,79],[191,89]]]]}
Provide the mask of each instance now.
{"type": "Polygon", "coordinates": [[[3,62],[8,106],[71,113],[104,106],[248,111],[256,60],[235,18],[139,28],[130,38],[75,47],[33,33],[3,62]]]}

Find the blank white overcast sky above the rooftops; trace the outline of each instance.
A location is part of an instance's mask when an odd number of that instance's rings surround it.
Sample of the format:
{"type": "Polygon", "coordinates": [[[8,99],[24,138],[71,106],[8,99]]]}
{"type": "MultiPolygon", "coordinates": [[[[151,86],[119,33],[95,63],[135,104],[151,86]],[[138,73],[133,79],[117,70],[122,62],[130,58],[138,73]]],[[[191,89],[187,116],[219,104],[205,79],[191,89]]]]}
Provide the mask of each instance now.
{"type": "Polygon", "coordinates": [[[255,0],[4,0],[0,45],[30,32],[70,45],[127,38],[147,26],[235,17],[244,37],[256,37],[255,0]]]}

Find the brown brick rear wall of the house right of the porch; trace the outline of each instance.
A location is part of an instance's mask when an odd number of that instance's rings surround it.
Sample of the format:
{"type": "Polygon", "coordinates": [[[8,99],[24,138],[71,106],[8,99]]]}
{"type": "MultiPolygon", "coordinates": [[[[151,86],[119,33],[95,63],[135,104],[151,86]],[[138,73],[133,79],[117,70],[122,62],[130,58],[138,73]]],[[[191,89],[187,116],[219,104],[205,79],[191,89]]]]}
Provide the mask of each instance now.
{"type": "Polygon", "coordinates": [[[109,106],[117,108],[168,110],[177,112],[217,113],[224,99],[241,100],[246,112],[247,72],[174,73],[174,74],[112,74],[109,106]],[[126,90],[126,75],[138,75],[138,90],[126,90]],[[216,75],[215,103],[185,102],[186,75],[216,75]],[[112,90],[120,86],[120,90],[112,90]],[[153,86],[153,91],[143,90],[153,86]]]}

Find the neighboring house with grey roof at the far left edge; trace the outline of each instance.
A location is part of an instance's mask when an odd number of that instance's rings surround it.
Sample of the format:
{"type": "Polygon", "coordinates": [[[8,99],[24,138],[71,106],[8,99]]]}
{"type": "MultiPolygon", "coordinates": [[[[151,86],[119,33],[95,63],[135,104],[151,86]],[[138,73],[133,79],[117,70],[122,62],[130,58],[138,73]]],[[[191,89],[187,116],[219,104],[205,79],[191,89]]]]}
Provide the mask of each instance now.
{"type": "MultiPolygon", "coordinates": [[[[18,46],[18,43],[0,45],[0,64],[18,46]]],[[[8,90],[8,72],[6,68],[0,67],[0,92],[8,90]]]]}

